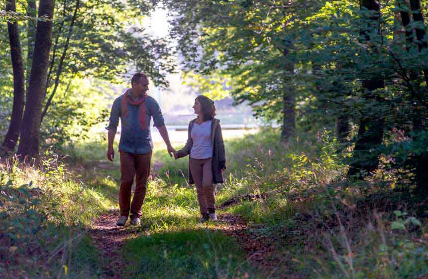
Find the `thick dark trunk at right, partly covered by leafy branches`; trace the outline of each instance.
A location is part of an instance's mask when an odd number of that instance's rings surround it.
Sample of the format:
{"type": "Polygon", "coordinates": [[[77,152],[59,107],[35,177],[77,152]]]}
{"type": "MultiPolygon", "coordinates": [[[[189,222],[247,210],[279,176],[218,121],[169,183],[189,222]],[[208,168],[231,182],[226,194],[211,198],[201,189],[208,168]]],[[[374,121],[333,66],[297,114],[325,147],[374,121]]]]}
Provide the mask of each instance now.
{"type": "MultiPolygon", "coordinates": [[[[364,18],[367,26],[361,29],[361,35],[365,42],[370,41],[370,32],[379,30],[380,5],[378,0],[360,0],[361,8],[365,7],[375,13],[369,18],[364,18]]],[[[369,51],[376,52],[375,48],[369,51]]],[[[384,80],[381,77],[371,77],[362,82],[365,90],[366,102],[374,100],[372,91],[383,88],[384,80]]],[[[382,116],[361,116],[360,127],[358,129],[357,141],[353,152],[353,161],[350,164],[348,175],[361,174],[367,175],[374,171],[379,165],[379,156],[373,153],[373,149],[382,143],[384,130],[384,121],[382,116]]],[[[361,176],[362,177],[362,176],[361,176]]]]}

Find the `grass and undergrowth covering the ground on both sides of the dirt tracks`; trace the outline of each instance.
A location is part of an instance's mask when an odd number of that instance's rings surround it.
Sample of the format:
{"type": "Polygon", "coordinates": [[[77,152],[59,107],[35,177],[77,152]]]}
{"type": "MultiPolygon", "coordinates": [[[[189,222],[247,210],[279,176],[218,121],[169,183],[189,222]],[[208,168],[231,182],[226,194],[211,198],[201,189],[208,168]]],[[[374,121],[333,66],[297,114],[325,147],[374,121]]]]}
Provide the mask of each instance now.
{"type": "MultiPolygon", "coordinates": [[[[266,130],[226,140],[226,181],[216,195],[217,205],[239,195],[268,196],[220,212],[241,215],[251,224],[249,234],[274,243],[271,277],[428,273],[427,218],[417,214],[421,201],[400,190],[408,188],[392,171],[348,180],[342,163],[347,151],[339,151],[328,131],[288,144],[278,134],[266,130]]],[[[0,272],[10,278],[98,277],[103,262],[85,230],[100,212],[117,208],[120,178],[118,160],[107,162],[104,149],[101,141],[75,144],[65,164],[47,156],[40,170],[1,165],[0,272]]],[[[187,159],[155,150],[143,225],[123,247],[130,263],[125,278],[265,278],[222,233],[222,224],[197,222],[187,159]]]]}

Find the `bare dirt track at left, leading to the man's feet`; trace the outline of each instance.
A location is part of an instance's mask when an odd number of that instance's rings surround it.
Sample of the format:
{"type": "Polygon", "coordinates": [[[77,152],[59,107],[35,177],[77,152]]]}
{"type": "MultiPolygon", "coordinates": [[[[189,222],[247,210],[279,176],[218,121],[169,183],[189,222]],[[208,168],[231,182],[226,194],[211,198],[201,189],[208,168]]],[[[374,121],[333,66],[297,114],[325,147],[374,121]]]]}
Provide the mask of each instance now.
{"type": "Polygon", "coordinates": [[[139,227],[134,227],[134,230],[130,230],[128,224],[126,227],[118,227],[116,226],[117,218],[117,211],[103,214],[95,221],[93,229],[90,230],[94,244],[102,253],[104,270],[104,273],[100,275],[102,279],[123,278],[122,246],[127,239],[138,236],[139,227]]]}

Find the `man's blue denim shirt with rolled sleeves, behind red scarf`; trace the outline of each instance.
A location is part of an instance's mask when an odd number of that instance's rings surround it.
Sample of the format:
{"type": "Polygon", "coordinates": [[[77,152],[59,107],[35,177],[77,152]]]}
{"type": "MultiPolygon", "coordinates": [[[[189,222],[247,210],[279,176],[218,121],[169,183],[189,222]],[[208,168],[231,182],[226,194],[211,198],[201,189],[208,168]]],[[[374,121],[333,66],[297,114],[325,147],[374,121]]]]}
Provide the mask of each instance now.
{"type": "Polygon", "coordinates": [[[138,112],[140,110],[140,106],[133,106],[128,103],[128,117],[125,118],[122,117],[121,100],[122,96],[114,100],[113,106],[111,107],[110,121],[107,127],[107,130],[111,130],[116,133],[120,117],[121,132],[119,151],[134,154],[145,154],[152,151],[153,142],[150,134],[151,118],[153,117],[154,127],[160,128],[165,125],[165,120],[162,116],[159,104],[152,97],[146,97],[144,103],[146,107],[147,129],[142,130],[141,124],[138,121],[138,112]]]}

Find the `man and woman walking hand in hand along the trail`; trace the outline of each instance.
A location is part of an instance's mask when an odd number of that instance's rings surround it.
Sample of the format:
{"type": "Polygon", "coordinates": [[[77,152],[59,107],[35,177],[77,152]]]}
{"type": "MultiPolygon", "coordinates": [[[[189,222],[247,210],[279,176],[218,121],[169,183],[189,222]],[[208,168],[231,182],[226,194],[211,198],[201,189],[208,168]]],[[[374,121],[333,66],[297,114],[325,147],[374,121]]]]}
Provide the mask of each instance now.
{"type": "Polygon", "coordinates": [[[201,222],[217,220],[215,215],[214,184],[223,182],[226,169],[225,150],[220,121],[215,119],[214,102],[206,96],[196,98],[193,109],[198,117],[189,123],[186,145],[176,151],[169,140],[159,104],[147,95],[147,75],[136,73],[131,79],[132,88],[114,100],[111,107],[108,130],[107,159],[113,161],[113,141],[117,126],[121,124],[120,154],[120,216],[117,226],[124,226],[130,215],[132,225],[140,224],[141,207],[150,174],[153,142],[150,121],[153,119],[168,153],[175,159],[190,155],[189,183],[196,184],[201,222]],[[135,176],[135,192],[131,202],[131,187],[135,176]]]}

